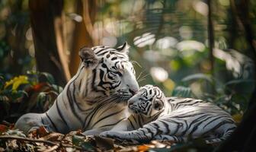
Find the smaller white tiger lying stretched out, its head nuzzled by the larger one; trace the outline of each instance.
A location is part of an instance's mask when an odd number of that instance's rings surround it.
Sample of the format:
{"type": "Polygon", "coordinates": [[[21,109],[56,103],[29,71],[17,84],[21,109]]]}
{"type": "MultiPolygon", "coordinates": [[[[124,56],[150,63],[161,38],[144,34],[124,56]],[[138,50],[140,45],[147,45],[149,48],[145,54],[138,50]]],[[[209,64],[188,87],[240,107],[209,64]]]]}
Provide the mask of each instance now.
{"type": "Polygon", "coordinates": [[[141,87],[128,101],[128,119],[101,136],[146,142],[152,139],[186,141],[205,138],[206,143],[225,140],[235,129],[231,116],[213,103],[190,98],[168,97],[152,85],[141,87]],[[135,130],[136,129],[136,130],[135,130]]]}

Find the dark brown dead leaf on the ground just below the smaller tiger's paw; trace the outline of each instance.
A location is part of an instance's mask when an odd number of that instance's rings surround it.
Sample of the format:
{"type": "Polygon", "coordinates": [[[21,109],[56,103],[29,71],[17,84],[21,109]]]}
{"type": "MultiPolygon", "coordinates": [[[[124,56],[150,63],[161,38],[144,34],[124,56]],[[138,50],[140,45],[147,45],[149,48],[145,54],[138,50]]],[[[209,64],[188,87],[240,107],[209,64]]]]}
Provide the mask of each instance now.
{"type": "Polygon", "coordinates": [[[111,138],[102,138],[94,136],[97,147],[104,148],[105,150],[114,149],[114,140],[111,138]]]}

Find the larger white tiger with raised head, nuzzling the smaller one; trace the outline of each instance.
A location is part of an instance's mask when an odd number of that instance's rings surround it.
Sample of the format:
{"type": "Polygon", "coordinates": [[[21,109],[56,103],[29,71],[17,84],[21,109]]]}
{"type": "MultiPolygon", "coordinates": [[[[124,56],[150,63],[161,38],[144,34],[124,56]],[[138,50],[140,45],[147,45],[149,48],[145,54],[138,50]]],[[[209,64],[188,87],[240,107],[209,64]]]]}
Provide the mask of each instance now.
{"type": "Polygon", "coordinates": [[[127,116],[123,101],[139,90],[128,52],[127,43],[117,49],[83,47],[78,72],[53,106],[42,114],[21,116],[15,127],[25,133],[42,125],[61,133],[82,129],[85,135],[110,130],[127,116]]]}

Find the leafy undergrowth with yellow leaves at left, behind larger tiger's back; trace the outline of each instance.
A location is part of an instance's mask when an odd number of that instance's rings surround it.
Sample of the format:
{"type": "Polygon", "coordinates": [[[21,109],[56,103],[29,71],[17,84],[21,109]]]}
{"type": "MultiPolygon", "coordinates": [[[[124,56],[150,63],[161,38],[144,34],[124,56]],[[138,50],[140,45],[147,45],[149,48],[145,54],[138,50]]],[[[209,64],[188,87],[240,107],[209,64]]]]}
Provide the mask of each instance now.
{"type": "Polygon", "coordinates": [[[28,71],[5,81],[1,78],[0,107],[2,120],[14,122],[26,112],[45,112],[62,91],[45,72],[28,71]]]}

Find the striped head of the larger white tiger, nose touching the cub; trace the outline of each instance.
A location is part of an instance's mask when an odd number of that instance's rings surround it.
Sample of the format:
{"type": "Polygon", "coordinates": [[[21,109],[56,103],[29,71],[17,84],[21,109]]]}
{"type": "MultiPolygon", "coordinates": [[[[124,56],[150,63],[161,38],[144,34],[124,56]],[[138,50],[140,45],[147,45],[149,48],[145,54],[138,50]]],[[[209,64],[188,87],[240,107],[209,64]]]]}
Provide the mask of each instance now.
{"type": "Polygon", "coordinates": [[[133,97],[139,90],[139,84],[128,52],[127,43],[117,49],[107,46],[80,49],[82,64],[79,69],[85,72],[82,72],[78,86],[85,100],[115,96],[115,101],[122,102],[133,97]]]}

